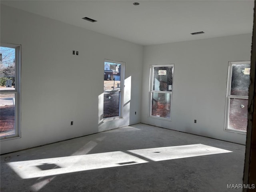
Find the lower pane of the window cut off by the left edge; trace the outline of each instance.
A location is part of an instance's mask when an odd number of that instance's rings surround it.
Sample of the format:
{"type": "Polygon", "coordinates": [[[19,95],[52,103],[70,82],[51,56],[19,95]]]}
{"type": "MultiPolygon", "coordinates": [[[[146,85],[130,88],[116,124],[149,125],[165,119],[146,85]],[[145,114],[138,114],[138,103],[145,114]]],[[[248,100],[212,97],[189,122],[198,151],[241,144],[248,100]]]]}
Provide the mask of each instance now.
{"type": "Polygon", "coordinates": [[[15,134],[15,94],[0,94],[0,136],[15,134]]]}

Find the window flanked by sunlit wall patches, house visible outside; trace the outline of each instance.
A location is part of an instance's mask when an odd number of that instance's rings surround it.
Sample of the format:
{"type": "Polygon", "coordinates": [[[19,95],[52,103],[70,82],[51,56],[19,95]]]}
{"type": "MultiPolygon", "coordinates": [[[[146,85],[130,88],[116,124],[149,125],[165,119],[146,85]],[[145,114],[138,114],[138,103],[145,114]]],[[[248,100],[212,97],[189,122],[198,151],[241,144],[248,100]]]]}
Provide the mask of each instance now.
{"type": "Polygon", "coordinates": [[[105,60],[103,118],[122,118],[124,62],[105,60]]]}

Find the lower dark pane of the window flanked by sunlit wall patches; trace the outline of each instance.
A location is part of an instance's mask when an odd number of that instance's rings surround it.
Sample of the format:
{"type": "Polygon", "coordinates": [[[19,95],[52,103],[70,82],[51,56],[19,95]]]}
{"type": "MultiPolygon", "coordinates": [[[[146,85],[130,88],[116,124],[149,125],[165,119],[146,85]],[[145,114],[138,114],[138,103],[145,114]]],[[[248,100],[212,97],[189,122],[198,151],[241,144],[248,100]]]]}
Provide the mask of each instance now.
{"type": "Polygon", "coordinates": [[[103,118],[119,116],[120,91],[104,91],[103,118]]]}

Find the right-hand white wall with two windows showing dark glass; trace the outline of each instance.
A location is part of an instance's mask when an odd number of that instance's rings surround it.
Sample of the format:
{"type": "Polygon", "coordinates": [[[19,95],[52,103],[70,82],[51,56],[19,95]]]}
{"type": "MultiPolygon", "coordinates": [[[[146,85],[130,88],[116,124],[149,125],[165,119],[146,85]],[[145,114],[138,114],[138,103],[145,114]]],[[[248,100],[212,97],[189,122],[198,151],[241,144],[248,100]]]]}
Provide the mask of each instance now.
{"type": "Polygon", "coordinates": [[[251,41],[244,34],[144,47],[142,123],[245,144],[245,134],[224,131],[224,114],[228,62],[250,60],[251,41]],[[172,122],[148,117],[149,69],[156,64],[174,64],[172,122]]]}

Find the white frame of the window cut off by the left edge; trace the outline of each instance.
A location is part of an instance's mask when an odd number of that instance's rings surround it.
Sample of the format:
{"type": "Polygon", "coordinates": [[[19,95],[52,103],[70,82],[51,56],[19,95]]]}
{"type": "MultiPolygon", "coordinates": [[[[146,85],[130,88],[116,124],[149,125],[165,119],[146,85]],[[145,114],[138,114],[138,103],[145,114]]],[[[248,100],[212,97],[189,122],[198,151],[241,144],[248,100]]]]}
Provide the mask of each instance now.
{"type": "Polygon", "coordinates": [[[0,141],[16,139],[21,137],[20,119],[20,79],[21,79],[21,45],[1,43],[2,47],[15,48],[15,90],[0,90],[1,94],[15,94],[15,134],[1,136],[0,141]]]}

